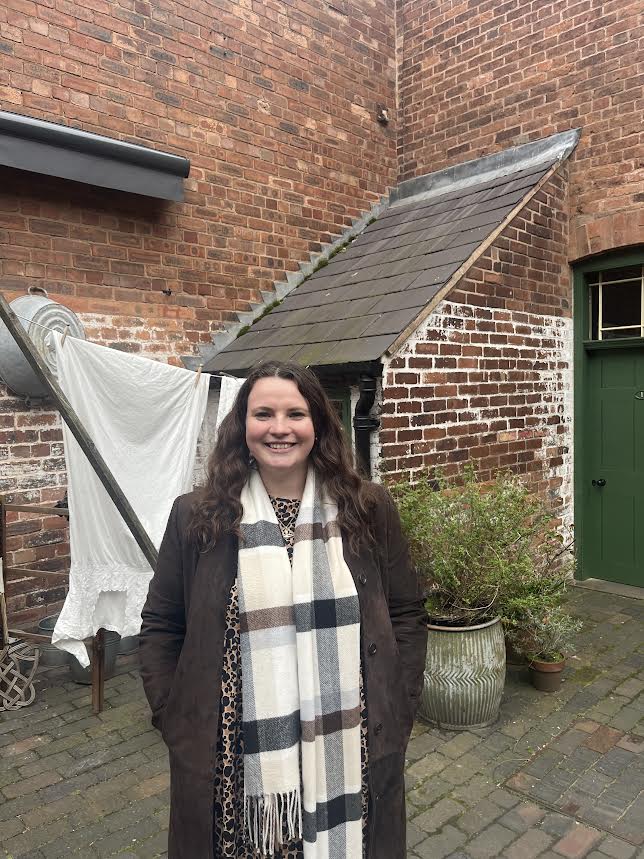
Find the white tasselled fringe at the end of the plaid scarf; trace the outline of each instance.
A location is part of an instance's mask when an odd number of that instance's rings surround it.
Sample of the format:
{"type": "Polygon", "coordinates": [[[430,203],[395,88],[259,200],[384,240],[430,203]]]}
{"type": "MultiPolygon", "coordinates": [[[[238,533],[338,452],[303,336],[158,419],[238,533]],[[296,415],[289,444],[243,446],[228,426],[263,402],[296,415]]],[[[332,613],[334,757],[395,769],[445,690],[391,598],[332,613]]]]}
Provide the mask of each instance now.
{"type": "Polygon", "coordinates": [[[262,856],[272,856],[283,843],[302,838],[300,789],[294,788],[288,793],[245,796],[244,823],[251,845],[262,856]]]}

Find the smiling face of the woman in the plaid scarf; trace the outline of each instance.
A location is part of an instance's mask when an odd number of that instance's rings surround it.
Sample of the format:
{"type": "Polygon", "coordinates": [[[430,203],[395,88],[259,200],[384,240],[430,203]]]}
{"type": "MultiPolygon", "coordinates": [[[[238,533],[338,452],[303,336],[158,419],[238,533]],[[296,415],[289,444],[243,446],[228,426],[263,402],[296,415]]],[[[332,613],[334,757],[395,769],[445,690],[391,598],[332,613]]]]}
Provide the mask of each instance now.
{"type": "Polygon", "coordinates": [[[260,473],[305,473],[314,441],[309,404],[295,382],[258,379],[248,397],[246,444],[260,473]]]}

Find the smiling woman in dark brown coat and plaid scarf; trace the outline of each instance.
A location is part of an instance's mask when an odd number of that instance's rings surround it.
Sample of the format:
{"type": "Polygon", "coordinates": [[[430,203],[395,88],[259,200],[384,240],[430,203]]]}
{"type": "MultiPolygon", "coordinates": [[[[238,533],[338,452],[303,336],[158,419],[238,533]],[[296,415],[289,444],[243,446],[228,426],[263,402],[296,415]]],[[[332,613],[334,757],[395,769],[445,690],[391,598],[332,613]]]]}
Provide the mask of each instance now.
{"type": "Polygon", "coordinates": [[[403,859],[426,618],[388,494],[313,373],[254,369],[175,501],[141,673],[170,859],[403,859]]]}

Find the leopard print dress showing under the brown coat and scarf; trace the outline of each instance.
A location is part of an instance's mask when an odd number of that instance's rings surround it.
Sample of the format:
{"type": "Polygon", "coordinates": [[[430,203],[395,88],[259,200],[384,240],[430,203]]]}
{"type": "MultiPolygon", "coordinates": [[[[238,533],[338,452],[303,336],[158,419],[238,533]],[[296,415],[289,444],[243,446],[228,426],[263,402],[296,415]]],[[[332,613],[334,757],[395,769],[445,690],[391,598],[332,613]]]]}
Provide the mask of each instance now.
{"type": "MultiPolygon", "coordinates": [[[[289,559],[293,562],[293,534],[300,502],[273,498],[271,503],[280,525],[289,559]]],[[[367,706],[360,671],[361,753],[362,753],[362,840],[366,856],[367,813],[369,808],[367,706]]],[[[239,602],[235,581],[226,609],[224,665],[221,675],[219,734],[215,761],[214,796],[215,859],[258,859],[260,854],[246,841],[244,829],[244,738],[242,735],[242,678],[239,641],[239,602]]],[[[273,859],[304,859],[302,841],[291,842],[273,859]]]]}

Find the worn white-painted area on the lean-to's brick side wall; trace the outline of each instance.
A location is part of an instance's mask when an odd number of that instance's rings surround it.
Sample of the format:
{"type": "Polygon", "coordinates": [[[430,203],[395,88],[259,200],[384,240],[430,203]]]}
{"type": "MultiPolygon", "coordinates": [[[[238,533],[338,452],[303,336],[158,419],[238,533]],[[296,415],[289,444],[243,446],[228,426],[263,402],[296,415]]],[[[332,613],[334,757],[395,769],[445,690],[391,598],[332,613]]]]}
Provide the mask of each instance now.
{"type": "MultiPolygon", "coordinates": [[[[452,357],[452,356],[450,356],[452,357]]],[[[451,420],[441,422],[432,429],[441,428],[445,435],[462,434],[469,425],[487,425],[494,422],[494,439],[499,443],[513,442],[525,438],[541,439],[541,447],[535,451],[535,459],[543,463],[546,479],[561,479],[561,487],[556,494],[562,498],[562,517],[566,524],[573,520],[573,323],[570,318],[543,316],[526,313],[511,313],[488,307],[473,307],[445,301],[432,313],[417,332],[399,349],[384,361],[383,379],[385,382],[383,405],[394,404],[394,415],[407,415],[408,403],[416,398],[415,391],[422,386],[436,386],[437,374],[440,385],[450,385],[451,379],[457,386],[458,401],[450,412],[451,420]],[[501,341],[501,342],[499,342],[501,341]],[[440,366],[440,354],[421,354],[419,344],[423,343],[456,344],[457,346],[476,347],[478,356],[467,356],[472,367],[459,366],[459,355],[455,367],[440,366]],[[410,364],[413,358],[425,359],[427,367],[416,368],[410,364]],[[394,360],[400,359],[400,360],[394,360]],[[502,366],[490,366],[491,362],[502,366]],[[393,362],[393,366],[392,366],[393,362]],[[399,366],[402,364],[402,366],[399,366]],[[507,365],[507,366],[503,366],[507,365]],[[522,379],[513,379],[517,371],[522,379]],[[417,373],[418,383],[400,382],[402,373],[417,373]],[[467,382],[457,380],[466,373],[467,382]],[[483,381],[481,382],[481,374],[483,381]],[[443,379],[445,381],[443,381],[443,379]],[[492,382],[500,386],[495,397],[501,397],[500,406],[476,402],[480,399],[481,384],[492,382]],[[476,385],[477,393],[464,390],[467,385],[476,385]],[[406,387],[407,397],[392,399],[387,397],[391,387],[406,387]],[[525,396],[529,403],[529,414],[514,417],[499,415],[499,409],[513,408],[518,398],[525,396]],[[561,421],[563,430],[558,432],[553,418],[561,421]],[[519,425],[517,425],[519,424],[519,425]],[[553,448],[563,447],[563,463],[550,466],[553,448]]],[[[426,399],[426,398],[425,398],[426,399]]],[[[522,410],[524,404],[517,403],[522,410]]],[[[474,433],[473,433],[474,434],[474,433]]],[[[425,435],[429,435],[425,433],[425,435]]],[[[379,445],[378,459],[387,459],[387,444],[379,445]]],[[[413,448],[413,444],[412,444],[413,448]]],[[[430,456],[431,458],[431,456],[430,456]]],[[[436,457],[433,458],[436,461],[436,457]]],[[[420,474],[427,471],[428,465],[412,469],[420,474]]]]}

